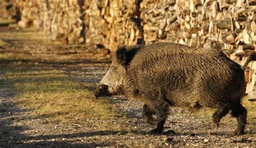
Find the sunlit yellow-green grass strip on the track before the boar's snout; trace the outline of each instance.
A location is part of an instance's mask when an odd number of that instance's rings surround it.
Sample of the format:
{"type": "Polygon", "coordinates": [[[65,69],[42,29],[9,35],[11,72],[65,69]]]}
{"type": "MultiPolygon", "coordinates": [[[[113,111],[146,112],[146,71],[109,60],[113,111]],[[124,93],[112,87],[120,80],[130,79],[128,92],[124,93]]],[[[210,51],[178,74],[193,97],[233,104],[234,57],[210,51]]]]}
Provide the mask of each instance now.
{"type": "Polygon", "coordinates": [[[123,116],[107,100],[95,100],[86,83],[62,69],[24,63],[4,54],[0,54],[0,61],[5,62],[1,86],[14,90],[18,106],[32,109],[33,116],[60,122],[123,116]]]}

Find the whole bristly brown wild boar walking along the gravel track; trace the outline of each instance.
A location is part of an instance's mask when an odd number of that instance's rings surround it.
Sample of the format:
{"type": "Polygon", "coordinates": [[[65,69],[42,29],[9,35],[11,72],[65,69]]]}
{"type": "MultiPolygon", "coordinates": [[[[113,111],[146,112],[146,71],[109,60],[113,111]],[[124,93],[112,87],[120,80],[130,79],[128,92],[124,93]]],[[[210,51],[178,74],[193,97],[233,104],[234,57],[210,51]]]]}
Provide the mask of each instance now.
{"type": "MultiPolygon", "coordinates": [[[[251,60],[254,59],[245,66],[251,60]]],[[[143,101],[146,121],[157,123],[151,133],[163,132],[169,107],[210,107],[217,109],[212,115],[217,127],[231,111],[237,118],[234,134],[240,135],[244,133],[247,115],[240,103],[245,89],[244,69],[223,52],[154,43],[119,47],[94,94],[125,95],[143,101]]]]}

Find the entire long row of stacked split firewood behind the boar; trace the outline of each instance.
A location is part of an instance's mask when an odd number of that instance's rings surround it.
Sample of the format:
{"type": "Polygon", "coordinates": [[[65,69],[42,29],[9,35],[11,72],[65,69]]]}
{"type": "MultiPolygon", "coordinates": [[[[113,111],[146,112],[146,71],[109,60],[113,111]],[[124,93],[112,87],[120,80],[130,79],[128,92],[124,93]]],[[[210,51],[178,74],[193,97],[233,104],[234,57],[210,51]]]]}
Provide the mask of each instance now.
{"type": "MultiPolygon", "coordinates": [[[[20,26],[31,23],[55,39],[119,45],[171,41],[193,47],[222,48],[243,57],[254,50],[252,0],[17,0],[20,26]],[[232,51],[235,50],[235,51],[232,51]]],[[[232,55],[233,56],[233,55],[232,55]]],[[[231,58],[234,59],[234,56],[231,58]]]]}

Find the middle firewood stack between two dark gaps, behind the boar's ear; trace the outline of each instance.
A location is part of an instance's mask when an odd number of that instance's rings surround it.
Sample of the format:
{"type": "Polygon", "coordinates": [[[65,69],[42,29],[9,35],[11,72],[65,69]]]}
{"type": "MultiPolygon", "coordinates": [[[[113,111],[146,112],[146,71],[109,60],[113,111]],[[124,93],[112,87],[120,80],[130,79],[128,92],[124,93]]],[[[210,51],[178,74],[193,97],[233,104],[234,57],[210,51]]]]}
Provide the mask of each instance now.
{"type": "Polygon", "coordinates": [[[85,18],[86,42],[104,45],[110,50],[116,50],[119,45],[142,43],[143,32],[137,26],[138,5],[137,1],[127,0],[89,2],[85,18]]]}

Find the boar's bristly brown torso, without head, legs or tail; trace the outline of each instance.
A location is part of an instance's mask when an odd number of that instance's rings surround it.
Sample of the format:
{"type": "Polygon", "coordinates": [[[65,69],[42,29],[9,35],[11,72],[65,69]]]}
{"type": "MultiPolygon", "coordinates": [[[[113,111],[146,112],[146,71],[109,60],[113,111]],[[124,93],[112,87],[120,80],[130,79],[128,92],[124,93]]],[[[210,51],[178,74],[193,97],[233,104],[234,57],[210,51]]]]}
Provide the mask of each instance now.
{"type": "Polygon", "coordinates": [[[215,107],[237,101],[241,93],[234,91],[245,91],[244,70],[223,52],[173,43],[142,46],[127,76],[142,94],[150,97],[163,89],[178,106],[199,102],[215,107]]]}

